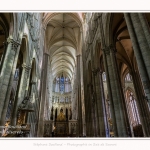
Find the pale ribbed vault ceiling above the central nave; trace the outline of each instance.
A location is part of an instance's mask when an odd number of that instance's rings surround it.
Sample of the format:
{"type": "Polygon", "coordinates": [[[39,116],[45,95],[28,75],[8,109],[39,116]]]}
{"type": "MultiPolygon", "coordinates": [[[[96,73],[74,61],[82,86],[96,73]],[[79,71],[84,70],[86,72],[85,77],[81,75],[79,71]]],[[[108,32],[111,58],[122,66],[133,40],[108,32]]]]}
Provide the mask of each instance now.
{"type": "Polygon", "coordinates": [[[67,13],[55,15],[47,24],[46,38],[54,77],[62,73],[70,79],[73,77],[79,36],[78,23],[67,13]]]}

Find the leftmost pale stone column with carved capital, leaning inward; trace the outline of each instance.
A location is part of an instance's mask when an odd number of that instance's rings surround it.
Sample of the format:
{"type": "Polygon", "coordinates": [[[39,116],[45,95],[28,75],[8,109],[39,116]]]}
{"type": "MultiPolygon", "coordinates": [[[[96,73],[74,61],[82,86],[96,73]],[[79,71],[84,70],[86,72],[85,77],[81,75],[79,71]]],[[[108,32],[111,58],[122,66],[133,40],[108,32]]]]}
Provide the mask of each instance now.
{"type": "Polygon", "coordinates": [[[5,124],[12,83],[17,65],[20,43],[8,38],[7,50],[0,74],[0,125],[5,124]]]}

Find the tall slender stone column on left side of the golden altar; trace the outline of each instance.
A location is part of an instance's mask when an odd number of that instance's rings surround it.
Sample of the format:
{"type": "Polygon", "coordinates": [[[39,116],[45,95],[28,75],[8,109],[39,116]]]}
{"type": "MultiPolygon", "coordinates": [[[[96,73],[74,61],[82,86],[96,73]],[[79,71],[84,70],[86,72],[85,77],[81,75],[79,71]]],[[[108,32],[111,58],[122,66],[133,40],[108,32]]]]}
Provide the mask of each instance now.
{"type": "Polygon", "coordinates": [[[42,64],[42,76],[41,76],[40,110],[39,110],[38,131],[37,131],[38,137],[43,137],[44,133],[44,106],[46,102],[48,57],[49,55],[47,53],[44,53],[42,64]]]}

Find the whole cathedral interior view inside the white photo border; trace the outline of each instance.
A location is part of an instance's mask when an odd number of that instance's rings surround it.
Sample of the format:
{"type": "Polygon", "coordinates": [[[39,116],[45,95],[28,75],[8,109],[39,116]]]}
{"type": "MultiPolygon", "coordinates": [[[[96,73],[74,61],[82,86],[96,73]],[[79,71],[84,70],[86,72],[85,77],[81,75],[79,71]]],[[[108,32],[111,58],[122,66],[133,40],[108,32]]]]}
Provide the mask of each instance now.
{"type": "Polygon", "coordinates": [[[0,13],[0,137],[150,137],[150,13],[0,13]]]}

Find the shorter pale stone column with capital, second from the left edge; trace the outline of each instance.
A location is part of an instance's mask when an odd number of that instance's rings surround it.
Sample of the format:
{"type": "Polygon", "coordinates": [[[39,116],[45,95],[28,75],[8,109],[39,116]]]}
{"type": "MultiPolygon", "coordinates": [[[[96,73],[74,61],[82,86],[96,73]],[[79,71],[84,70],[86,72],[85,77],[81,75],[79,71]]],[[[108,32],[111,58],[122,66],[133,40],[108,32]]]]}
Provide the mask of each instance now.
{"type": "Polygon", "coordinates": [[[28,82],[30,77],[31,66],[27,66],[26,64],[22,65],[22,74],[21,74],[21,82],[19,86],[19,92],[16,95],[15,104],[12,112],[11,125],[16,125],[17,122],[17,111],[18,107],[23,101],[24,97],[27,96],[28,90],[28,82]]]}

